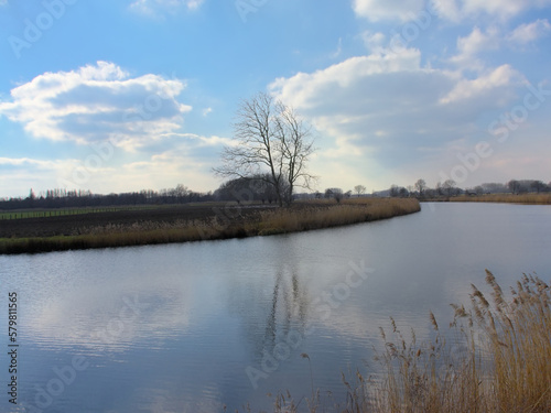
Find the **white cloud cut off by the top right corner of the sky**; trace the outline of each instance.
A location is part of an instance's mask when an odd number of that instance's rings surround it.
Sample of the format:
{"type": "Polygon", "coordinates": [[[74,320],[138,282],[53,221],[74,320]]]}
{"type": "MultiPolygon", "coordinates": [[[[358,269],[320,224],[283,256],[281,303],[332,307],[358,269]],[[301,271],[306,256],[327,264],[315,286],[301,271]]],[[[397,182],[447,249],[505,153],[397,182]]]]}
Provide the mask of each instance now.
{"type": "Polygon", "coordinates": [[[551,0],[432,0],[440,18],[460,22],[489,15],[501,21],[509,20],[530,9],[551,4],[551,0]]]}

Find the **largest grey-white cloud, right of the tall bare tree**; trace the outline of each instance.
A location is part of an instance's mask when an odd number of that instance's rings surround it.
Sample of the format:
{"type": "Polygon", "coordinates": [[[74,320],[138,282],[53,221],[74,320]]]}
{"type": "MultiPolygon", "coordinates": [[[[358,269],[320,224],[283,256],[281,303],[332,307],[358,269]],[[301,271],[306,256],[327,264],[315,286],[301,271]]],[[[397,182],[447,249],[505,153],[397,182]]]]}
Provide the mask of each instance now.
{"type": "Polygon", "coordinates": [[[425,67],[420,51],[406,48],[279,78],[270,89],[320,130],[326,148],[320,164],[343,155],[332,167],[347,182],[350,173],[391,175],[408,164],[437,162],[450,142],[485,133],[480,113],[510,104],[522,81],[508,65],[475,78],[425,67]]]}

